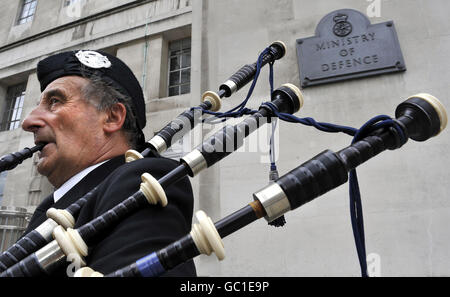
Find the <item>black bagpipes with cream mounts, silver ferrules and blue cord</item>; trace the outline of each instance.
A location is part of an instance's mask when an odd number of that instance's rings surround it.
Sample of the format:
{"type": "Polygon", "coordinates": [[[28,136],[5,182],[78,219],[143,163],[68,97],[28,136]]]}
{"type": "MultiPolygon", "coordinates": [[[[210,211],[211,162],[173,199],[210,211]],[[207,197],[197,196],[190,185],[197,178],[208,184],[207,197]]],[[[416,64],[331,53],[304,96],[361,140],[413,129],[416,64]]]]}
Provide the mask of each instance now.
{"type": "MultiPolygon", "coordinates": [[[[350,146],[333,152],[326,150],[309,161],[278,177],[253,193],[253,200],[243,208],[213,223],[203,211],[196,213],[198,223],[193,224],[189,234],[167,245],[165,248],[149,253],[137,259],[129,266],[123,267],[106,276],[159,276],[200,254],[210,255],[214,252],[219,260],[225,257],[222,239],[252,222],[265,218],[275,226],[282,225],[283,215],[297,209],[303,204],[349,182],[351,199],[351,219],[362,276],[367,276],[365,261],[364,228],[362,207],[356,176],[356,167],[385,150],[402,147],[409,138],[425,141],[438,135],[447,124],[445,108],[438,99],[429,94],[417,94],[399,104],[395,118],[386,115],[374,117],[361,128],[316,122],[312,118],[298,118],[294,113],[304,104],[303,95],[296,86],[284,84],[273,89],[273,64],[285,55],[286,48],[282,42],[274,42],[258,57],[257,62],[245,65],[219,88],[219,92],[205,92],[202,103],[190,108],[166,125],[150,141],[142,152],[128,151],[127,162],[145,158],[152,152],[161,153],[172,143],[192,130],[203,115],[213,118],[242,117],[248,115],[236,125],[226,125],[206,138],[190,153],[183,156],[179,165],[166,175],[156,180],[148,173],[142,175],[140,189],[121,203],[108,210],[87,224],[73,229],[76,217],[87,200],[97,188],[81,197],[76,203],[64,210],[51,208],[48,219],[41,226],[26,234],[17,243],[0,255],[0,276],[39,276],[50,274],[64,265],[70,258],[81,266],[86,266],[84,258],[88,255],[89,243],[98,239],[102,231],[119,224],[121,220],[134,212],[150,205],[167,205],[165,189],[186,176],[194,177],[199,172],[221,161],[237,151],[246,137],[266,124],[268,118],[277,118],[291,123],[314,126],[325,132],[343,132],[353,136],[350,146]],[[270,101],[260,105],[258,110],[245,107],[256,84],[261,68],[270,65],[271,96],[270,101]],[[237,90],[253,80],[245,100],[233,109],[218,112],[221,99],[230,97],[237,90]]],[[[39,147],[35,149],[38,151],[39,147]]],[[[27,152],[2,157],[14,163],[1,168],[10,170],[23,161],[27,152]],[[19,160],[20,161],[17,161],[19,160]]],[[[271,164],[276,171],[276,166],[271,164]]],[[[66,263],[67,264],[67,263],[66,263]]],[[[103,276],[89,267],[77,270],[75,276],[103,276]]]]}

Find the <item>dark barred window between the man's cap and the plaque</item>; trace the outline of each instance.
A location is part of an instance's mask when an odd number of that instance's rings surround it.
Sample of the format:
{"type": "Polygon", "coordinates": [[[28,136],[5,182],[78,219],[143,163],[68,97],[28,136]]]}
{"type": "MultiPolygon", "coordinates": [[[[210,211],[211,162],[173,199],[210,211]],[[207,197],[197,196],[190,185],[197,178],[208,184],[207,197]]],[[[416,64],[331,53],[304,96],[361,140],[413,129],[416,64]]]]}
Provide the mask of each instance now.
{"type": "Polygon", "coordinates": [[[169,43],[169,96],[191,92],[191,39],[169,43]]]}

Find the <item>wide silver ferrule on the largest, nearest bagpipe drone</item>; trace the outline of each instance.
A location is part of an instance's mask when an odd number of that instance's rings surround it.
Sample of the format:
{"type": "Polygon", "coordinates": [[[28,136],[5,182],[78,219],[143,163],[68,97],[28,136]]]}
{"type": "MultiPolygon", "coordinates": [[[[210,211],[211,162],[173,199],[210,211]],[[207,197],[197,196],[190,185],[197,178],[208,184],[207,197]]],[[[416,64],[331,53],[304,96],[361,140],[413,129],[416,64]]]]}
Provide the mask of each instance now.
{"type": "Polygon", "coordinates": [[[277,183],[271,183],[262,190],[254,193],[253,198],[259,200],[264,207],[267,214],[265,219],[268,222],[272,222],[291,210],[291,205],[286,194],[277,183]]]}

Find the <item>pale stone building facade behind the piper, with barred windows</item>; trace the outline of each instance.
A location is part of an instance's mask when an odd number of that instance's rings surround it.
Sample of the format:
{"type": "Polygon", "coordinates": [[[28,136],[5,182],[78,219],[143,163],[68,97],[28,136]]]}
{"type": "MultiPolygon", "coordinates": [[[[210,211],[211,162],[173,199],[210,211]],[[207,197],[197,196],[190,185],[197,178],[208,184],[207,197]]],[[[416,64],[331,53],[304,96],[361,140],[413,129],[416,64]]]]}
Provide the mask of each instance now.
{"type": "MultiPolygon", "coordinates": [[[[300,86],[296,40],[313,36],[328,13],[350,8],[371,23],[393,21],[406,71],[304,88],[299,117],[359,127],[417,93],[450,106],[450,22],[444,0],[10,0],[0,12],[0,155],[33,145],[20,122],[37,104],[36,64],[50,54],[104,50],[124,60],[141,82],[148,139],[175,116],[200,103],[275,40],[287,46],[274,65],[275,88],[300,86]],[[174,61],[178,66],[173,66],[174,61]]],[[[240,103],[249,86],[223,102],[240,103]]],[[[249,107],[270,99],[268,71],[261,71],[249,107]]],[[[196,129],[166,155],[179,158],[209,130],[196,129]]],[[[269,182],[267,138],[246,146],[192,178],[195,208],[213,221],[252,201],[269,182]]],[[[267,136],[267,135],[266,135],[267,136]]],[[[280,175],[325,149],[350,144],[339,134],[279,122],[280,175]]],[[[448,132],[424,143],[409,141],[358,168],[369,268],[382,276],[450,275],[450,165],[448,132]]],[[[53,191],[35,170],[35,158],[0,174],[0,205],[32,212],[53,191]]],[[[294,212],[282,228],[264,220],[224,238],[226,258],[195,259],[199,275],[358,276],[349,217],[348,185],[294,212]]]]}

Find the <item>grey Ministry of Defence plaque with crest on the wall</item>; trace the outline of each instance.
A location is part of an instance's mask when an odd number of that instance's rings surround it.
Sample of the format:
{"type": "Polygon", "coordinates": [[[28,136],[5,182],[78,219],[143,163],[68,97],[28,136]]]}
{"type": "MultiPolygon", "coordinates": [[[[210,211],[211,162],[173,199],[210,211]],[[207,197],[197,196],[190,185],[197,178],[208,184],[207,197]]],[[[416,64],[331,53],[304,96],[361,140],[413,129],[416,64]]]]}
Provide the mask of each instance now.
{"type": "Polygon", "coordinates": [[[297,39],[297,58],[302,87],[406,70],[394,23],[371,24],[353,9],[327,14],[315,36],[297,39]]]}

